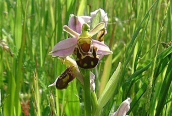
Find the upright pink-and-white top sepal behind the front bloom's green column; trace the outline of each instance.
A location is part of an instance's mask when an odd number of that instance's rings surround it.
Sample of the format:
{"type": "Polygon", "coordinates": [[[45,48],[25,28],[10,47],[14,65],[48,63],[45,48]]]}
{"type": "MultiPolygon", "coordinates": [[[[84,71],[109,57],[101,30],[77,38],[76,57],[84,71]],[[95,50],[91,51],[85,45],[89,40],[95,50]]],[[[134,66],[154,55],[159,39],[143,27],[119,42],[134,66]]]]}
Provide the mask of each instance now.
{"type": "Polygon", "coordinates": [[[90,22],[91,17],[89,16],[75,16],[75,15],[71,15],[70,19],[69,19],[69,27],[78,32],[81,33],[82,32],[82,25],[84,23],[88,23],[90,22]]]}

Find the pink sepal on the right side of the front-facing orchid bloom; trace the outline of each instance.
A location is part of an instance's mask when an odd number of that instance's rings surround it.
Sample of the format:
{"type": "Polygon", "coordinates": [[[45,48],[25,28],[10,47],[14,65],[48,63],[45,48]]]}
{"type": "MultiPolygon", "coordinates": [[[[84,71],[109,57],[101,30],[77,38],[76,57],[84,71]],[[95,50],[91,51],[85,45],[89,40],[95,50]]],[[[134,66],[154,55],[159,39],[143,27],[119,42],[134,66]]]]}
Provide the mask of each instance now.
{"type": "Polygon", "coordinates": [[[93,46],[96,46],[98,48],[97,54],[98,55],[109,55],[112,54],[113,52],[110,51],[109,47],[107,45],[105,45],[102,42],[99,42],[97,40],[93,40],[92,41],[93,46]]]}

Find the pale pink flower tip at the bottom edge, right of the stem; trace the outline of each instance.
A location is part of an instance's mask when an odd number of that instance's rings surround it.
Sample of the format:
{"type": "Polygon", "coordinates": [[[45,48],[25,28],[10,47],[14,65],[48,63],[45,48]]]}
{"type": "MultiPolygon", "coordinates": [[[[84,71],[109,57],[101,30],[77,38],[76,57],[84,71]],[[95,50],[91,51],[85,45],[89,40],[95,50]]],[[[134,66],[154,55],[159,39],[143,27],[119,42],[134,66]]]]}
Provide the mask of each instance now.
{"type": "Polygon", "coordinates": [[[126,116],[127,112],[130,110],[131,101],[132,100],[130,98],[123,101],[113,116],[126,116]]]}

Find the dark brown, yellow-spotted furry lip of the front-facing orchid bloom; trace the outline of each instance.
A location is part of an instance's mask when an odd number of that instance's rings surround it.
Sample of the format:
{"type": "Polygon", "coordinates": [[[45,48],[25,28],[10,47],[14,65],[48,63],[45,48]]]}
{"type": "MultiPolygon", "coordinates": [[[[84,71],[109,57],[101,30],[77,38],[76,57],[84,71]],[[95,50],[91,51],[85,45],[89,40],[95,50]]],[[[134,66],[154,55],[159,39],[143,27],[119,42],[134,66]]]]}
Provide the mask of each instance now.
{"type": "Polygon", "coordinates": [[[99,62],[97,48],[94,46],[91,46],[90,51],[87,54],[82,53],[82,51],[77,47],[76,56],[77,65],[84,69],[95,68],[99,62]]]}

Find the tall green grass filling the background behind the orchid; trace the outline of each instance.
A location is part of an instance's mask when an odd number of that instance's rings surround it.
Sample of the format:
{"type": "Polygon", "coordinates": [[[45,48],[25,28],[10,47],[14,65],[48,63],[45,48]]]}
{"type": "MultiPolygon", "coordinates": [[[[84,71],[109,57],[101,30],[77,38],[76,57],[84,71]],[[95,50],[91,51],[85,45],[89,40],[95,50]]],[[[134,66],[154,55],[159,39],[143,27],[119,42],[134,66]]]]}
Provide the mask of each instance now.
{"type": "Polygon", "coordinates": [[[130,116],[172,115],[172,46],[161,44],[172,40],[170,0],[0,0],[1,116],[84,114],[77,79],[66,90],[48,88],[66,69],[49,52],[68,37],[62,28],[70,14],[98,8],[108,14],[105,43],[113,51],[93,70],[98,98],[119,62],[122,67],[101,115],[111,115],[127,97],[130,116]]]}

